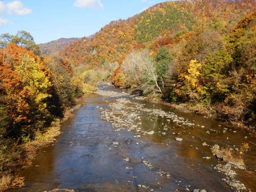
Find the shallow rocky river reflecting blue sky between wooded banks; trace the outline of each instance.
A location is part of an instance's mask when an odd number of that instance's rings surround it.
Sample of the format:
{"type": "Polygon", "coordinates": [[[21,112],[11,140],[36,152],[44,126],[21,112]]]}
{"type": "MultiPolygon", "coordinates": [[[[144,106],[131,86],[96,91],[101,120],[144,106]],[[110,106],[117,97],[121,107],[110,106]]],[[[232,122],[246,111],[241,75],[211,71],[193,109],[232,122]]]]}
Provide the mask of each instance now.
{"type": "Polygon", "coordinates": [[[226,163],[210,148],[218,144],[235,150],[243,142],[249,143],[246,169],[231,169],[247,188],[241,191],[256,191],[256,138],[247,130],[118,95],[111,87],[101,90],[112,94],[88,95],[76,117],[63,123],[57,141],[42,148],[24,171],[25,186],[8,192],[236,191],[214,168],[226,163]]]}

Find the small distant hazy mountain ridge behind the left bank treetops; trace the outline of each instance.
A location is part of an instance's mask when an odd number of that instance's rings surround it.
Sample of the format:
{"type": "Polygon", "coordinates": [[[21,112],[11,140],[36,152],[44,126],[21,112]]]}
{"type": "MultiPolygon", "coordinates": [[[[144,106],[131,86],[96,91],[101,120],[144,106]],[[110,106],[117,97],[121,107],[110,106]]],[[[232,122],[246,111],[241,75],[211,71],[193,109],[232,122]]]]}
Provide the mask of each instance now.
{"type": "Polygon", "coordinates": [[[53,52],[62,51],[64,47],[69,46],[73,42],[79,40],[79,38],[59,38],[46,42],[45,44],[39,44],[42,54],[51,54],[53,52]]]}

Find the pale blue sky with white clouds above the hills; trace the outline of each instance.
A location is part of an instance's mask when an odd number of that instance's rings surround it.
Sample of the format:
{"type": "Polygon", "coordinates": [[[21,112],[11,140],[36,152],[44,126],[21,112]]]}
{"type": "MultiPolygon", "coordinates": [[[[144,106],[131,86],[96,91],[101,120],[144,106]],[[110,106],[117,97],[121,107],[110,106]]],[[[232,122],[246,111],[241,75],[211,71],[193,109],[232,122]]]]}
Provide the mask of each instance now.
{"type": "Polygon", "coordinates": [[[37,44],[94,34],[161,0],[0,0],[0,35],[30,32],[37,44]]]}

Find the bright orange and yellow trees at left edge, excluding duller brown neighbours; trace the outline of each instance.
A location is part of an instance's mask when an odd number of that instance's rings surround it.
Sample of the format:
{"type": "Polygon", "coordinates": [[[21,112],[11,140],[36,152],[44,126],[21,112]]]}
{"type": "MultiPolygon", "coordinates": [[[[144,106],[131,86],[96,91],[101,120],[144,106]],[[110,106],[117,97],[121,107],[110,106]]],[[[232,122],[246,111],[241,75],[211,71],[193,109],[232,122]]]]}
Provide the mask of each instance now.
{"type": "Polygon", "coordinates": [[[16,45],[0,50],[0,58],[1,113],[6,114],[2,127],[7,135],[31,134],[32,124],[49,118],[49,71],[32,51],[16,45]]]}

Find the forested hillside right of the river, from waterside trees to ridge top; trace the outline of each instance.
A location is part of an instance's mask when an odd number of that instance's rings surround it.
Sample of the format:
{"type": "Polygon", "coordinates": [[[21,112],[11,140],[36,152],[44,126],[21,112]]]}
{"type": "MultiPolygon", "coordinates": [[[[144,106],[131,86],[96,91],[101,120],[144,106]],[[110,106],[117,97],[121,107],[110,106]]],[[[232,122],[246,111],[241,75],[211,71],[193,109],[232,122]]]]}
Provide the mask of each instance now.
{"type": "Polygon", "coordinates": [[[169,1],[111,22],[61,54],[81,73],[114,68],[115,86],[251,124],[254,11],[256,2],[251,0],[169,1]]]}

